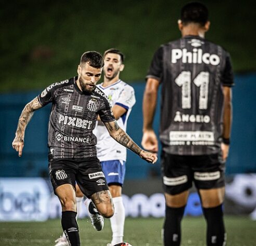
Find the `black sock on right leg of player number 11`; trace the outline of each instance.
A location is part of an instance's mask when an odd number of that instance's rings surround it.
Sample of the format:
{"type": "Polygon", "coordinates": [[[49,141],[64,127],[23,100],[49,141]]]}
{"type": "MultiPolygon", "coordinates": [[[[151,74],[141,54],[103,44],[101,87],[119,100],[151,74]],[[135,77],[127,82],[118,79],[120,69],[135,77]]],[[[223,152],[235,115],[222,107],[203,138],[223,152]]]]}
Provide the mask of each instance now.
{"type": "Polygon", "coordinates": [[[215,208],[203,208],[207,221],[207,246],[223,246],[226,242],[222,204],[215,208]]]}

